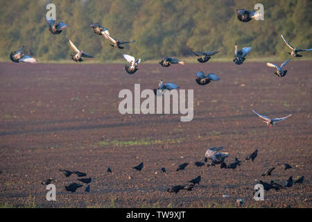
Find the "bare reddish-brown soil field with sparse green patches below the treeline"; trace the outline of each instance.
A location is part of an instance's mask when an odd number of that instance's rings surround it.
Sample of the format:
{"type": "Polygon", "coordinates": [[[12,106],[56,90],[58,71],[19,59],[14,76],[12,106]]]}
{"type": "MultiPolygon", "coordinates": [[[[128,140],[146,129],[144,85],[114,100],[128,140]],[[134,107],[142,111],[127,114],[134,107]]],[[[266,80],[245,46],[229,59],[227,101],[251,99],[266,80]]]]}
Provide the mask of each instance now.
{"type": "MultiPolygon", "coordinates": [[[[291,61],[279,78],[262,62],[140,65],[134,75],[124,65],[0,64],[0,204],[2,207],[311,207],[312,62],[291,61]],[[196,84],[197,71],[221,80],[196,84]],[[119,114],[121,89],[154,89],[161,78],[194,89],[194,119],[180,114],[119,114]],[[267,128],[252,113],[292,117],[267,128]],[[235,170],[196,167],[207,148],[225,146],[254,162],[235,170]],[[139,173],[133,166],[144,162],[139,173]],[[184,171],[177,166],[189,162],[184,171]],[[270,178],[261,173],[277,167],[270,178]],[[113,173],[107,173],[110,167],[113,173]],[[167,173],[160,173],[162,167],[167,173]],[[64,185],[78,182],[58,169],[78,170],[92,178],[76,193],[64,185]],[[202,176],[192,191],[169,194],[173,185],[202,176]],[[257,180],[284,185],[305,176],[303,185],[265,194],[255,201],[257,180]],[[57,201],[46,200],[46,178],[56,178],[57,201]],[[130,178],[130,179],[129,179],[130,178]],[[223,194],[229,198],[223,198],[223,194]]],[[[141,100],[143,101],[143,99],[141,100]]]]}

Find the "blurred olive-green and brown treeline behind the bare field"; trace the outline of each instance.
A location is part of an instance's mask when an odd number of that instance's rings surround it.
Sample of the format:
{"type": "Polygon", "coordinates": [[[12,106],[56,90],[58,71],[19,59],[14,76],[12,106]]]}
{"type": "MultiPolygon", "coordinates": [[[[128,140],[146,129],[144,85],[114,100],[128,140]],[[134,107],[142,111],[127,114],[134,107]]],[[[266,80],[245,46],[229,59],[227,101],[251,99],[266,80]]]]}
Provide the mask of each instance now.
{"type": "MultiPolygon", "coordinates": [[[[288,47],[312,47],[311,0],[0,0],[0,58],[26,46],[40,61],[69,60],[68,39],[78,49],[99,61],[122,58],[123,53],[143,60],[164,55],[187,57],[192,51],[223,51],[218,57],[232,57],[234,44],[252,46],[255,58],[286,58],[288,47]],[[60,35],[49,32],[46,4],[56,6],[57,22],[69,27],[60,35]],[[264,21],[239,22],[237,8],[254,10],[264,6],[264,21]],[[136,40],[123,50],[114,50],[110,41],[95,35],[89,24],[99,22],[113,38],[136,40]]],[[[311,52],[302,53],[311,57],[311,52]]]]}

